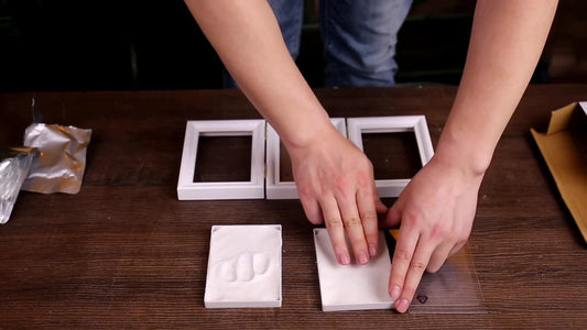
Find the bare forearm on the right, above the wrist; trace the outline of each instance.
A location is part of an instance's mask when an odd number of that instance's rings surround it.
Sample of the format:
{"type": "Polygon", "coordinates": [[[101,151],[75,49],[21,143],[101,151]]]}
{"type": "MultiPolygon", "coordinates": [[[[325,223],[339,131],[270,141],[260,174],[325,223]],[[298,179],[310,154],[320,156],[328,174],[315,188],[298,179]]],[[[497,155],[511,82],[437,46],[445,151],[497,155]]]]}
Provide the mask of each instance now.
{"type": "Polygon", "coordinates": [[[555,0],[479,0],[438,158],[482,175],[546,41],[555,0]]]}

